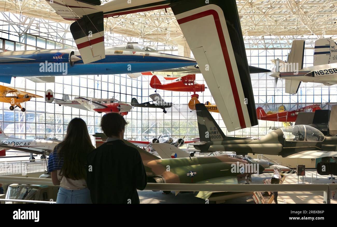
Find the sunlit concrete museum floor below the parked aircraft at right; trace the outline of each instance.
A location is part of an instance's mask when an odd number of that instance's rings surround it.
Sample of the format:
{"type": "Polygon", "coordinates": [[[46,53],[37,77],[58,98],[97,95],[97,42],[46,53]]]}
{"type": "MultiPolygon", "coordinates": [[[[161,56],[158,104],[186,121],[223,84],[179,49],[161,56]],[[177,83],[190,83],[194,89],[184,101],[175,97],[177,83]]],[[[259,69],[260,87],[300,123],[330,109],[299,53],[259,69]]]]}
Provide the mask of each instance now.
{"type": "MultiPolygon", "coordinates": [[[[315,170],[306,170],[305,183],[311,183],[311,176],[313,174],[314,184],[330,184],[329,176],[317,175],[315,170]]],[[[273,174],[261,174],[252,177],[253,184],[263,184],[263,179],[271,178],[273,174]]],[[[297,184],[296,174],[285,174],[283,184],[297,184]]],[[[302,177],[300,177],[301,181],[302,177]]],[[[337,179],[335,180],[337,183],[337,179]]],[[[193,193],[179,193],[177,196],[174,192],[172,194],[163,194],[162,191],[138,191],[141,203],[205,203],[205,200],[194,197],[193,193]]],[[[265,198],[267,198],[265,196],[265,198]]],[[[332,198],[332,197],[331,197],[332,198]]],[[[278,203],[323,203],[323,192],[278,192],[278,203]]],[[[225,203],[254,203],[252,196],[245,196],[236,199],[227,200],[225,203]]],[[[335,199],[331,199],[331,203],[337,203],[337,194],[335,199]]]]}

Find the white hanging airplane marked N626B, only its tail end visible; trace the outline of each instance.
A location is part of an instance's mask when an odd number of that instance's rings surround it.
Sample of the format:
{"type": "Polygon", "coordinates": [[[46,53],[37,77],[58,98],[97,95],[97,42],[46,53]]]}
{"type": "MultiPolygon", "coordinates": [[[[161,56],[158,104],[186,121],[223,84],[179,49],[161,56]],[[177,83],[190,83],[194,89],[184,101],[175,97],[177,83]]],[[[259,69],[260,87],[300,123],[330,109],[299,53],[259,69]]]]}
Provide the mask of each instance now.
{"type": "Polygon", "coordinates": [[[315,42],[313,66],[303,68],[304,40],[294,40],[287,62],[274,60],[276,72],[271,76],[285,79],[285,92],[296,94],[301,82],[337,84],[337,44],[332,39],[315,42]]]}

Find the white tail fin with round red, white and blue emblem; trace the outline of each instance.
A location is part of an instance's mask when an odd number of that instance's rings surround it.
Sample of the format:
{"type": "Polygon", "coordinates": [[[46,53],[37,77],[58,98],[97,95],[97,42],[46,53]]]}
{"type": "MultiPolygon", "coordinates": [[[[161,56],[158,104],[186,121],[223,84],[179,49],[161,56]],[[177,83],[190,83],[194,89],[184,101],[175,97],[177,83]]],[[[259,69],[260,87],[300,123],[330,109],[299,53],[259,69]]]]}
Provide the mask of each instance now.
{"type": "Polygon", "coordinates": [[[165,158],[188,158],[190,155],[171,144],[153,143],[152,147],[157,151],[162,159],[165,158]]]}

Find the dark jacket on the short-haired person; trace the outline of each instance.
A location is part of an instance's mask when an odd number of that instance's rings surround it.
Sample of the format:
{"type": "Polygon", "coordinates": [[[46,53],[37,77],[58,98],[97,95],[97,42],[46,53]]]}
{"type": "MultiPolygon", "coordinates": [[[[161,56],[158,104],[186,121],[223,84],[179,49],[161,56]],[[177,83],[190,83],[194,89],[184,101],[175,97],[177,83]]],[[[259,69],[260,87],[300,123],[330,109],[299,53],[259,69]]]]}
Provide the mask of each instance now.
{"type": "Polygon", "coordinates": [[[139,203],[136,189],[144,190],[147,178],[136,148],[122,140],[106,142],[89,153],[87,164],[92,203],[139,203]]]}

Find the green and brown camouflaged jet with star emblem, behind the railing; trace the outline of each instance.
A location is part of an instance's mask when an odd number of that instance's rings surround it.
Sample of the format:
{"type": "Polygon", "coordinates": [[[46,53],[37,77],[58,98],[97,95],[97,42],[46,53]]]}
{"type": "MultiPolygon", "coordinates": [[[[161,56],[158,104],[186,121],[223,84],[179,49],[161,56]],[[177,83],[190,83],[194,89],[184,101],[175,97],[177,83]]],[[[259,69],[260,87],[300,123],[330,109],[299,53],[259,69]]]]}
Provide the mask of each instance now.
{"type": "MultiPolygon", "coordinates": [[[[249,163],[227,155],[160,159],[127,140],[123,141],[127,145],[136,148],[141,154],[148,183],[238,184],[239,181],[244,181],[247,176],[262,174],[264,171],[262,165],[249,163]],[[170,171],[167,171],[167,166],[170,166],[170,171]]],[[[101,144],[96,143],[96,147],[101,144]]],[[[176,195],[178,193],[179,191],[176,192],[176,195]]],[[[233,192],[200,191],[196,192],[195,197],[209,199],[209,201],[224,202],[227,199],[250,194],[252,192],[233,194],[233,192]]]]}

